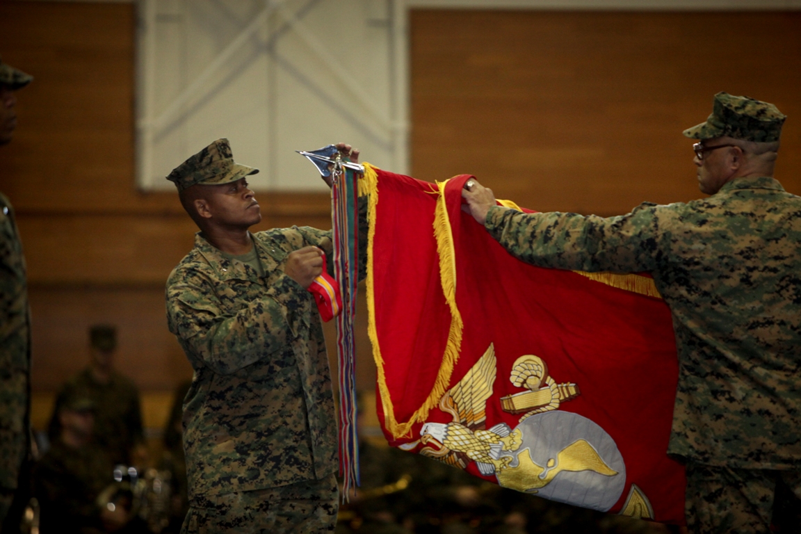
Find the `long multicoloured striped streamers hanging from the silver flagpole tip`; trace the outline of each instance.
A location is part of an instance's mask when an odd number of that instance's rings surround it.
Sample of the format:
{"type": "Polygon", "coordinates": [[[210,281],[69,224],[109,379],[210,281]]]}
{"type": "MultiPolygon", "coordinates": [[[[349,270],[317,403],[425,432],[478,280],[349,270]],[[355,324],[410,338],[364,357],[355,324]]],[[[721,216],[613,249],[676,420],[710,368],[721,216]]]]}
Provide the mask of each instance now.
{"type": "Polygon", "coordinates": [[[342,312],[336,316],[336,347],[340,380],[340,476],[342,500],[356,492],[359,480],[359,441],[356,435],[356,290],[359,276],[358,188],[353,171],[337,166],[332,185],[334,277],[340,284],[342,312]]]}

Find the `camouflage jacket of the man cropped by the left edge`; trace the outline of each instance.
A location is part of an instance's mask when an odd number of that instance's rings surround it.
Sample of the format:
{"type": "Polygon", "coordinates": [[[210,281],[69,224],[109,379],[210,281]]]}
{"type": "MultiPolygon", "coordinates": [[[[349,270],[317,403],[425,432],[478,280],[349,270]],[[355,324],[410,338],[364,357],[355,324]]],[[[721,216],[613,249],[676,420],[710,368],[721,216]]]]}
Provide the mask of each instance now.
{"type": "Polygon", "coordinates": [[[0,194],[0,488],[16,488],[30,435],[30,311],[14,208],[0,194]]]}

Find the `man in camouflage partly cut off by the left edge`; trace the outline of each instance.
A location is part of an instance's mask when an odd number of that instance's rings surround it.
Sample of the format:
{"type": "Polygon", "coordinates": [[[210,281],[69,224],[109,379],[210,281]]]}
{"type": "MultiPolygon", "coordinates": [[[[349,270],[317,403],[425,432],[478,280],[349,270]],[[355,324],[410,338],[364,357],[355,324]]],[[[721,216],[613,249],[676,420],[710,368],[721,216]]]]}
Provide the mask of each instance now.
{"type": "MultiPolygon", "coordinates": [[[[0,58],[0,146],[11,142],[17,127],[15,92],[32,79],[0,58]]],[[[0,399],[0,530],[14,532],[30,493],[30,313],[14,208],[2,193],[0,399]]]]}

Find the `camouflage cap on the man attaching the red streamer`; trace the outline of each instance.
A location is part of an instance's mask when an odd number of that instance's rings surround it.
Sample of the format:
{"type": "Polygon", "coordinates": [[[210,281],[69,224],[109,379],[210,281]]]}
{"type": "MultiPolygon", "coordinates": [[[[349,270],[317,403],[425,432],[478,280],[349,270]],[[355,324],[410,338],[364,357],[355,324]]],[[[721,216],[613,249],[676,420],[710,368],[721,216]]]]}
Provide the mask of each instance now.
{"type": "Polygon", "coordinates": [[[257,172],[259,169],[235,163],[231,145],[223,138],[217,139],[175,167],[167,179],[175,183],[178,191],[183,191],[196,183],[203,185],[231,183],[247,175],[255,175],[257,172]]]}

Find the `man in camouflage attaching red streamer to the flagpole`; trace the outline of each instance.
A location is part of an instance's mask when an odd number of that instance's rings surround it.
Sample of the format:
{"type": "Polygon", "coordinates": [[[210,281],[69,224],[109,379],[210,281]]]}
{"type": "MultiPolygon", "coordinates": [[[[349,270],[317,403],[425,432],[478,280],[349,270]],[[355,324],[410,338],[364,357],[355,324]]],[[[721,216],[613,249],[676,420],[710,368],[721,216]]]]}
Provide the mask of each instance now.
{"type": "MultiPolygon", "coordinates": [[[[336,148],[358,158],[350,145],[336,148]]],[[[256,172],[218,139],[167,176],[200,230],[167,279],[167,323],[194,370],[181,532],[333,532],[336,417],[308,291],[332,254],[331,232],[248,231],[261,221],[247,181],[256,172]]],[[[364,216],[359,223],[366,235],[364,216]]]]}

